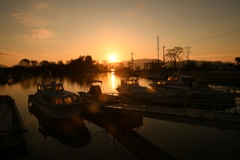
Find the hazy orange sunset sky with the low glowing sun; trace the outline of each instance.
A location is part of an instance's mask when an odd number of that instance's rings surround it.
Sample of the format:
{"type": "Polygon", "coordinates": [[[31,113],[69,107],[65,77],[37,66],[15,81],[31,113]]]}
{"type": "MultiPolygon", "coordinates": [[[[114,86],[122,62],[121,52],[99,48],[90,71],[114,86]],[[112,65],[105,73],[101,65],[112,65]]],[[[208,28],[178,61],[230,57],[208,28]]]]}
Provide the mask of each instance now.
{"type": "Polygon", "coordinates": [[[191,47],[190,60],[240,57],[240,0],[2,0],[0,64],[155,58],[191,47]],[[159,52],[157,47],[159,37],[159,52]],[[159,53],[159,54],[158,54],[159,53]]]}

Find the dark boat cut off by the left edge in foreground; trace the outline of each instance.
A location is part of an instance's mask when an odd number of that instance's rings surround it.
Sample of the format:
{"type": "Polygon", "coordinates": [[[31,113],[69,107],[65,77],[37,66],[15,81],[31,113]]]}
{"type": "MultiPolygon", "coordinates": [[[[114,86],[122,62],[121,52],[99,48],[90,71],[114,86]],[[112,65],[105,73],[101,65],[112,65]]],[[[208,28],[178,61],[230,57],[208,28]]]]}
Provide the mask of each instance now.
{"type": "Polygon", "coordinates": [[[27,129],[14,99],[9,95],[0,96],[0,118],[1,159],[21,159],[27,157],[29,153],[24,138],[27,129]]]}

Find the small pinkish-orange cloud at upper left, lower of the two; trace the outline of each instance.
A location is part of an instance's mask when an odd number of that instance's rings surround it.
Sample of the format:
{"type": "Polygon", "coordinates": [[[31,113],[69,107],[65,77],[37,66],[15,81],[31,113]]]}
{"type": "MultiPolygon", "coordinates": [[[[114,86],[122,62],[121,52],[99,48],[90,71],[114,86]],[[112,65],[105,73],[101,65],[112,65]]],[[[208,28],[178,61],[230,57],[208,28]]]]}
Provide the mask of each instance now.
{"type": "Polygon", "coordinates": [[[31,39],[47,39],[52,37],[52,32],[47,29],[33,29],[30,35],[25,35],[24,38],[31,39]]]}

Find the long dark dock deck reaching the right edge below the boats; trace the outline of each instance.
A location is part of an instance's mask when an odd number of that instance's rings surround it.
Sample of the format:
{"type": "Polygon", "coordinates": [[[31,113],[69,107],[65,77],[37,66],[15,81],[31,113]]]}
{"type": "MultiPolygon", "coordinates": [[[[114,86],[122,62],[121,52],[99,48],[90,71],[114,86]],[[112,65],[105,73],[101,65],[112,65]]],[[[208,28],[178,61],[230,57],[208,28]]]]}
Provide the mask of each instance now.
{"type": "Polygon", "coordinates": [[[146,105],[103,105],[106,113],[122,113],[141,115],[160,120],[200,125],[224,130],[240,131],[240,113],[224,111],[208,111],[183,108],[169,108],[146,105]]]}

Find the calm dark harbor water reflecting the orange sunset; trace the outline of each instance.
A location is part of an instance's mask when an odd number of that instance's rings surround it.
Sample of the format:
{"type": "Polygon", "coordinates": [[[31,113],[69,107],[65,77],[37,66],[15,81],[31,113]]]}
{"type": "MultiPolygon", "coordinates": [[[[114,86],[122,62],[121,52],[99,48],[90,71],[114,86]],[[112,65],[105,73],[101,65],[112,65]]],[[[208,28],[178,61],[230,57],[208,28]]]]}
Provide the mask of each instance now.
{"type": "MultiPolygon", "coordinates": [[[[116,93],[120,84],[120,77],[114,73],[55,78],[64,83],[66,90],[76,93],[84,91],[86,82],[93,79],[103,81],[105,93],[116,93]]],[[[33,77],[0,86],[1,95],[15,99],[28,130],[25,137],[29,156],[25,159],[137,159],[104,127],[87,118],[56,121],[37,112],[29,112],[28,94],[35,92],[36,84],[43,80],[44,77],[33,77]]],[[[140,84],[148,86],[149,82],[141,79],[140,84]]],[[[132,130],[175,159],[240,159],[239,132],[141,118],[142,125],[132,130]]]]}

